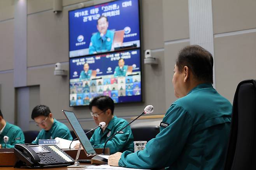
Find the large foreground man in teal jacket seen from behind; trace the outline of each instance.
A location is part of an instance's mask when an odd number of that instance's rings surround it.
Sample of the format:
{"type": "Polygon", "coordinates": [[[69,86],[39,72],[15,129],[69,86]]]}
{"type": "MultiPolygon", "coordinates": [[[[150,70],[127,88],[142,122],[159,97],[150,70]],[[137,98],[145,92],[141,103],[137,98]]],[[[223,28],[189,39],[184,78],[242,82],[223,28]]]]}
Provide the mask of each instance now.
{"type": "Polygon", "coordinates": [[[171,170],[222,170],[232,106],[213,87],[213,58],[198,45],[179,52],[172,83],[177,99],[160,123],[160,133],[143,151],[109,156],[109,165],[171,170]]]}

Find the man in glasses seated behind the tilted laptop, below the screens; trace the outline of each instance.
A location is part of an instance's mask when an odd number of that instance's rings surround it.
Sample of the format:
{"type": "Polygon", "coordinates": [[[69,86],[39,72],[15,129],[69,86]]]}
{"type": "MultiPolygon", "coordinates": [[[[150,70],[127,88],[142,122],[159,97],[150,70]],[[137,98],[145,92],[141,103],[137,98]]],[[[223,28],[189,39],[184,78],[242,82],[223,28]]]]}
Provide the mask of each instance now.
{"type": "MultiPolygon", "coordinates": [[[[103,148],[105,142],[114,133],[121,130],[128,122],[114,115],[114,101],[109,96],[98,96],[93,98],[89,104],[91,115],[96,125],[105,121],[104,128],[97,128],[93,133],[90,142],[94,148],[103,148]]],[[[110,154],[120,151],[134,151],[133,135],[131,127],[124,128],[119,134],[107,142],[110,154]]]]}

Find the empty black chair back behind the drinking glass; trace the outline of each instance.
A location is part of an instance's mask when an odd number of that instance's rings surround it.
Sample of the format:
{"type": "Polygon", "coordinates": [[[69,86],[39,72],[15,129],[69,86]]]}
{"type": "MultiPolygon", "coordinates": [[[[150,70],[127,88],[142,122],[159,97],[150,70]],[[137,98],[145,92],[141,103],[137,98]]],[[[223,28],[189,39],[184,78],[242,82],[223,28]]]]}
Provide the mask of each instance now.
{"type": "Polygon", "coordinates": [[[159,126],[132,127],[134,141],[150,141],[160,132],[159,126]]]}

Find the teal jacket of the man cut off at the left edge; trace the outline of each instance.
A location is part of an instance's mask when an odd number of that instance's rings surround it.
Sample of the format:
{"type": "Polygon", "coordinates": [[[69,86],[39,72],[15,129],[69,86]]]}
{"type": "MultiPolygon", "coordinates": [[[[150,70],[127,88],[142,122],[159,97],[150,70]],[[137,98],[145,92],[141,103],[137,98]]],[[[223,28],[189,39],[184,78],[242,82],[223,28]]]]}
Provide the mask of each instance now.
{"type": "Polygon", "coordinates": [[[21,130],[16,125],[12,125],[11,123],[6,122],[5,128],[0,134],[0,144],[2,145],[2,148],[5,147],[4,142],[4,136],[9,137],[9,141],[6,144],[6,148],[12,148],[15,144],[24,144],[25,143],[25,137],[21,130]]]}

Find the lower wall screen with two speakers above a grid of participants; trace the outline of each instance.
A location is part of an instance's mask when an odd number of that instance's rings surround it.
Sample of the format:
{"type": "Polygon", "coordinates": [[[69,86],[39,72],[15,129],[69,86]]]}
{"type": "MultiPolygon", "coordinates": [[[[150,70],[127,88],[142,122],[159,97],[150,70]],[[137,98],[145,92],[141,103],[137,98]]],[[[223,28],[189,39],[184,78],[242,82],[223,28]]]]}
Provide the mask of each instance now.
{"type": "Polygon", "coordinates": [[[70,106],[108,95],[115,103],[141,102],[140,49],[70,59],[70,106]]]}

